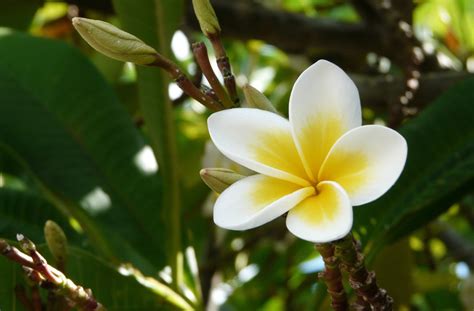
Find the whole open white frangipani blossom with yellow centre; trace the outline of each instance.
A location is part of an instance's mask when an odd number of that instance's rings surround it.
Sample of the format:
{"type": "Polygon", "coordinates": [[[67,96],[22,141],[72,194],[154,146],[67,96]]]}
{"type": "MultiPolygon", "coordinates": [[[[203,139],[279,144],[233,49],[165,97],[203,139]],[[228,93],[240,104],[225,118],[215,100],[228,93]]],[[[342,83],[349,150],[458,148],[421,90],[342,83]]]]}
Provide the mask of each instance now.
{"type": "Polygon", "coordinates": [[[344,237],[352,228],[352,206],[382,196],[407,155],[406,141],[396,131],[362,126],[356,86],[324,60],[293,86],[289,120],[235,108],[212,114],[208,127],[225,156],[258,173],[219,196],[214,222],[246,230],[288,212],[288,230],[311,242],[344,237]]]}

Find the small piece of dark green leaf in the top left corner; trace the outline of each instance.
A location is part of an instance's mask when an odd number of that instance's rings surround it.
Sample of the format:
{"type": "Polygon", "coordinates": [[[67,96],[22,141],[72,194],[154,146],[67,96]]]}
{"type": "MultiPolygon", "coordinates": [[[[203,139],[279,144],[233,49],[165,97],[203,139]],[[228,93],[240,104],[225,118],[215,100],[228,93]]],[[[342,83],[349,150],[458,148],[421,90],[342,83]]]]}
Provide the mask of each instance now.
{"type": "Polygon", "coordinates": [[[43,0],[2,0],[0,27],[27,30],[43,0]]]}

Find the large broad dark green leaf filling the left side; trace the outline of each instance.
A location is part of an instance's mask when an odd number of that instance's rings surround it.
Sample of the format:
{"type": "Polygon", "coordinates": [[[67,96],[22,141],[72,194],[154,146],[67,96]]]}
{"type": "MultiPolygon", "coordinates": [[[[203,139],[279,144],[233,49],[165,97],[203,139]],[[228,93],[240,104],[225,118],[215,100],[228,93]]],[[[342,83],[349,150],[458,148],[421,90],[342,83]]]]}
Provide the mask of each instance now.
{"type": "Polygon", "coordinates": [[[137,162],[145,141],[78,51],[26,35],[0,37],[0,150],[70,211],[89,198],[103,240],[106,231],[118,247],[122,238],[164,263],[160,180],[137,162]]]}

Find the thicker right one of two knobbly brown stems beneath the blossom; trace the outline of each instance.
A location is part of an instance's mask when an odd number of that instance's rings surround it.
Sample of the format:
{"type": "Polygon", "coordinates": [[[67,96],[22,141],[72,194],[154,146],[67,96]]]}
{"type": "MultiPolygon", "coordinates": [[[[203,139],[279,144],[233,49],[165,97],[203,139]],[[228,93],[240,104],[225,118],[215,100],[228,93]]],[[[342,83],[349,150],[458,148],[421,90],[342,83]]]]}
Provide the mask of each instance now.
{"type": "Polygon", "coordinates": [[[357,301],[352,308],[370,310],[371,307],[373,310],[392,310],[393,299],[386,290],[378,287],[375,273],[368,271],[365,267],[364,255],[357,248],[352,233],[333,244],[336,247],[336,256],[341,260],[341,266],[349,273],[349,284],[357,295],[357,301]]]}

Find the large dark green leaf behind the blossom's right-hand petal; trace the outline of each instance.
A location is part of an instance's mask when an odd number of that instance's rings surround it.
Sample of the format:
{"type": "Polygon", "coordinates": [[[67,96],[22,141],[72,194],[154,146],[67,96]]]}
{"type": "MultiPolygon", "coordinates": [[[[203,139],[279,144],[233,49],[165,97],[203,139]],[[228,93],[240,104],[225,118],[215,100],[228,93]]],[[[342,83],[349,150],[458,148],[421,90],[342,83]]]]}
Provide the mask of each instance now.
{"type": "Polygon", "coordinates": [[[356,228],[374,255],[387,242],[434,219],[474,185],[474,79],[440,96],[401,134],[408,159],[397,184],[356,208],[356,228]]]}

